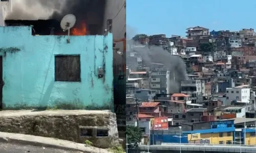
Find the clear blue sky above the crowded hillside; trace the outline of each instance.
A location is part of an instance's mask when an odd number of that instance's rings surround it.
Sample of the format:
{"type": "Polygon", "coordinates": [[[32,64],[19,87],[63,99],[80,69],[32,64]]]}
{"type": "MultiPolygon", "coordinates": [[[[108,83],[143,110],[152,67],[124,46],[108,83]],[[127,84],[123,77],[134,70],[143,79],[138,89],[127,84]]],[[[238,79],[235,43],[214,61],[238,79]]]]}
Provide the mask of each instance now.
{"type": "Polygon", "coordinates": [[[126,33],[185,36],[189,27],[239,31],[256,26],[255,0],[127,0],[126,33]]]}

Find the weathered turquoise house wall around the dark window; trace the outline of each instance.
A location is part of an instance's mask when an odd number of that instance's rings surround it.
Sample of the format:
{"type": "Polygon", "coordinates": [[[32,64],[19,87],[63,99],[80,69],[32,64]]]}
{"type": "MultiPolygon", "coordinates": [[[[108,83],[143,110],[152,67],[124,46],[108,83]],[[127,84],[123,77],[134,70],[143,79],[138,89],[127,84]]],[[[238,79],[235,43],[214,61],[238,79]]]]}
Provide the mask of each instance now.
{"type": "Polygon", "coordinates": [[[32,36],[31,27],[0,27],[5,110],[113,110],[113,36],[32,36]],[[107,46],[107,47],[104,47],[107,46]],[[80,55],[81,82],[54,81],[54,55],[80,55]],[[98,67],[105,75],[98,78],[98,67]]]}

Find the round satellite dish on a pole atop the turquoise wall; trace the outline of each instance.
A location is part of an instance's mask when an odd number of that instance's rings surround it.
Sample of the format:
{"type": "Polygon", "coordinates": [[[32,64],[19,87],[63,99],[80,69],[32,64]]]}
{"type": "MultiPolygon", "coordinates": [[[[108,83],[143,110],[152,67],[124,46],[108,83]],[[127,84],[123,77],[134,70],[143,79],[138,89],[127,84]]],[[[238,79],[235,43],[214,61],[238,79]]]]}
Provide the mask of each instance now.
{"type": "Polygon", "coordinates": [[[68,30],[68,39],[67,39],[67,43],[70,43],[70,29],[74,27],[76,23],[76,17],[73,14],[68,14],[65,15],[62,20],[60,21],[60,27],[61,29],[65,32],[66,30],[68,30]]]}

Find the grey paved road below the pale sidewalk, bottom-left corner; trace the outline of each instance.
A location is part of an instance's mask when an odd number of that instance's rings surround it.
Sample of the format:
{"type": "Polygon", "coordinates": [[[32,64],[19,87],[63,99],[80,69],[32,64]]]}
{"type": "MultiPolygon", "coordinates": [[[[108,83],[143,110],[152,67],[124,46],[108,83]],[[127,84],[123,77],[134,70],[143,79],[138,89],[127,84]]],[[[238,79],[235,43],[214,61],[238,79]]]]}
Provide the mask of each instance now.
{"type": "Polygon", "coordinates": [[[39,147],[39,146],[28,146],[28,145],[16,145],[10,143],[0,143],[1,153],[77,153],[77,151],[67,151],[61,149],[39,147]]]}

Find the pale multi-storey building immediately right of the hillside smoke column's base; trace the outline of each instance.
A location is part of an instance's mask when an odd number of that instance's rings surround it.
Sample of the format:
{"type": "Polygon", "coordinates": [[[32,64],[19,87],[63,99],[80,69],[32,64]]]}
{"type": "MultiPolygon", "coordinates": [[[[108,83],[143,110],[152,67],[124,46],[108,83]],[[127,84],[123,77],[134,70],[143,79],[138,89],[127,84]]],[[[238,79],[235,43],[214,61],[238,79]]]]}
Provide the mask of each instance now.
{"type": "Polygon", "coordinates": [[[181,93],[190,95],[192,103],[196,103],[198,95],[205,95],[205,84],[201,80],[185,80],[181,82],[181,93]]]}

